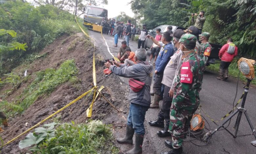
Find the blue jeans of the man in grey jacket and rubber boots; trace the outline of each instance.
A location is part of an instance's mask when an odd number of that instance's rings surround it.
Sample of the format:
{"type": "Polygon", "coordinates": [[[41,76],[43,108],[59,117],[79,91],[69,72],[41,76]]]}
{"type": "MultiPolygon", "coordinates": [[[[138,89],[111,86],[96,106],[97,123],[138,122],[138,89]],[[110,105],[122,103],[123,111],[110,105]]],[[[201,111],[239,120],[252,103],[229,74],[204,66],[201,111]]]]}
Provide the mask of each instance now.
{"type": "Polygon", "coordinates": [[[129,115],[127,117],[127,125],[135,129],[135,133],[138,135],[145,134],[145,115],[148,107],[131,103],[129,109],[129,115]]]}

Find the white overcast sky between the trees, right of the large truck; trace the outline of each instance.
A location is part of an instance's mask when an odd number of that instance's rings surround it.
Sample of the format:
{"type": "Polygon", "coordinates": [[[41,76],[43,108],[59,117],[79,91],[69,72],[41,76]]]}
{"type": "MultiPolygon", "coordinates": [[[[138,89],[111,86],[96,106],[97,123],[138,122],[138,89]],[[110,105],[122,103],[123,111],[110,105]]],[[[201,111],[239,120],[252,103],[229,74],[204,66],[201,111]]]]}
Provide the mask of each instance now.
{"type": "Polygon", "coordinates": [[[125,12],[126,15],[133,17],[134,13],[131,10],[131,5],[128,5],[129,2],[131,2],[131,0],[108,0],[108,5],[100,5],[100,7],[108,10],[108,18],[116,17],[122,11],[125,12]]]}

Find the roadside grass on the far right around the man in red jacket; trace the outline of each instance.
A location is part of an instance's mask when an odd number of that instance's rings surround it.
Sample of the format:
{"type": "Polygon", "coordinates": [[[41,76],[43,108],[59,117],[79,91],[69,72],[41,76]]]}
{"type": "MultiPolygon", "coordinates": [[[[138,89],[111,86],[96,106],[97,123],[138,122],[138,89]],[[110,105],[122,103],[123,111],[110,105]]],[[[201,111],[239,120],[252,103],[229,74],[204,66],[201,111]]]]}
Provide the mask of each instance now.
{"type": "MultiPolygon", "coordinates": [[[[228,75],[232,76],[234,78],[238,78],[238,75],[239,75],[239,72],[240,72],[240,70],[237,66],[237,61],[238,61],[238,59],[234,59],[228,67],[228,75]]],[[[220,61],[216,61],[216,63],[217,64],[211,64],[210,66],[208,66],[206,68],[209,69],[209,70],[215,71],[215,72],[219,72],[220,61]]],[[[256,70],[256,67],[254,67],[254,69],[256,70]]],[[[247,79],[245,78],[245,76],[242,73],[240,73],[239,79],[241,81],[247,82],[247,79]]],[[[251,84],[256,85],[256,80],[252,80],[251,84]]]]}

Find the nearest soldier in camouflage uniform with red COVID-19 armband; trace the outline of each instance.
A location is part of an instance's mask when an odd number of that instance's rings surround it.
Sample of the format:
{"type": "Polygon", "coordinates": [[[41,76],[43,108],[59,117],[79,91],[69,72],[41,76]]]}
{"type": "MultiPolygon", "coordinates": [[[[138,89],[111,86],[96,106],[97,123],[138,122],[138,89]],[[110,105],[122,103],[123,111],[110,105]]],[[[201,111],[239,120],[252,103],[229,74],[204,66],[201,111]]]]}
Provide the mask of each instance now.
{"type": "Polygon", "coordinates": [[[172,151],[162,154],[181,154],[183,139],[186,138],[189,122],[197,110],[200,99],[199,92],[205,68],[203,60],[194,52],[197,37],[184,34],[179,42],[185,58],[174,83],[174,97],[170,111],[169,130],[172,134],[172,151]]]}

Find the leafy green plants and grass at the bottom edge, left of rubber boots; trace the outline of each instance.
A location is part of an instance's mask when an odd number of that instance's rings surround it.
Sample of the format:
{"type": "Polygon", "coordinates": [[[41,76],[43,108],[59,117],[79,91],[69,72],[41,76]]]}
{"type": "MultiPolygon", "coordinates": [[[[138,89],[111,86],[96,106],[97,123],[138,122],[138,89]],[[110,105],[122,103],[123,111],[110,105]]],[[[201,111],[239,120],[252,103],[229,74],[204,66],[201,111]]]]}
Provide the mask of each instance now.
{"type": "MultiPolygon", "coordinates": [[[[36,153],[118,153],[113,146],[113,136],[108,125],[100,121],[88,124],[64,123],[53,128],[56,123],[47,124],[48,128],[36,128],[34,133],[20,141],[19,147],[34,145],[30,151],[36,153]]],[[[46,126],[46,125],[44,125],[46,126]]]]}

